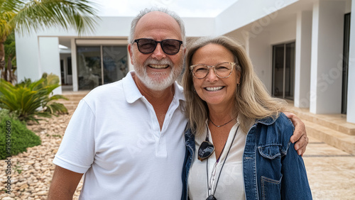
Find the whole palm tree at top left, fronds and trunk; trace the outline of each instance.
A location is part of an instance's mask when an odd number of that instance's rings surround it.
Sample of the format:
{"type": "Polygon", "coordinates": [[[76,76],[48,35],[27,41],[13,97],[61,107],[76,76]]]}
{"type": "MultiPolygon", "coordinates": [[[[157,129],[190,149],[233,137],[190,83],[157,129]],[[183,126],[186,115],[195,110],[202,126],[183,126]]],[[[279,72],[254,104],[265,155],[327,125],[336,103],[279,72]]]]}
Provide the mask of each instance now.
{"type": "Polygon", "coordinates": [[[13,81],[11,65],[6,66],[4,42],[15,31],[20,35],[33,30],[62,26],[79,35],[94,30],[97,10],[87,0],[0,0],[0,72],[13,81]]]}

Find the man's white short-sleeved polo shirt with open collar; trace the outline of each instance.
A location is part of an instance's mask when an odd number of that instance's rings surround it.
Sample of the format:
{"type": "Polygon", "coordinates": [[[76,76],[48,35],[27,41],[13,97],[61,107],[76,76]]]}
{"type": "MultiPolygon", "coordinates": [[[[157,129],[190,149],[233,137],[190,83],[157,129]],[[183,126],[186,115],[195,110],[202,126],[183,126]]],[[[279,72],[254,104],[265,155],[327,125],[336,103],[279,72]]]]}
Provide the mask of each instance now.
{"type": "Polygon", "coordinates": [[[160,131],[131,72],[80,101],[53,163],[85,173],[80,199],[180,199],[185,157],[182,87],[160,131]]]}

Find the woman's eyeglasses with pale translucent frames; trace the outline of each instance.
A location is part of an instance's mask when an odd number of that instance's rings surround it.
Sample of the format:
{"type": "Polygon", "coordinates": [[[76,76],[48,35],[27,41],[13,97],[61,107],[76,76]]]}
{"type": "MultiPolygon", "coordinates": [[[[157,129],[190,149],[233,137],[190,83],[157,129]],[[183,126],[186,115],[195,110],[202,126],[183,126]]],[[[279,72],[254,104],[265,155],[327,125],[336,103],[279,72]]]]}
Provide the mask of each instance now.
{"type": "Polygon", "coordinates": [[[222,62],[214,66],[207,66],[207,65],[192,65],[192,72],[197,79],[203,79],[207,76],[210,67],[214,67],[214,73],[217,74],[220,78],[229,77],[231,74],[231,70],[233,65],[231,62],[222,62]]]}

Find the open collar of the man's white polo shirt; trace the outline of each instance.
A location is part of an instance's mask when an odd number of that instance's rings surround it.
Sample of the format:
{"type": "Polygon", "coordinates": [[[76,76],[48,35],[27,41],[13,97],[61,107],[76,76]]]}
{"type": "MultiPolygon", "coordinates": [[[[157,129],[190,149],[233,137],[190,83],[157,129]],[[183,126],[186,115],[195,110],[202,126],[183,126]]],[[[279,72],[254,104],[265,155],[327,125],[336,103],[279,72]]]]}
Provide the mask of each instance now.
{"type": "MultiPolygon", "coordinates": [[[[134,73],[134,71],[127,73],[126,77],[122,79],[122,84],[124,87],[124,96],[126,97],[126,101],[129,104],[143,97],[141,91],[139,91],[136,85],[136,82],[134,82],[133,80],[132,73],[134,73]]],[[[185,96],[182,87],[177,82],[174,82],[174,89],[175,89],[174,98],[185,101],[185,96]]]]}

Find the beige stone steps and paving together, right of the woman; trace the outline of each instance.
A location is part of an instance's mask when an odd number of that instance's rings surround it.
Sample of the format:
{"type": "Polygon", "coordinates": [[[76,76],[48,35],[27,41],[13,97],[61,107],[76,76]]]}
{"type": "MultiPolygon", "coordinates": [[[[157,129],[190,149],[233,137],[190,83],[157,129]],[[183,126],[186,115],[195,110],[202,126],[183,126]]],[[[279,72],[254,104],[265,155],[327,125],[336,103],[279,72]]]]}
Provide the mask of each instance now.
{"type": "Polygon", "coordinates": [[[313,199],[355,199],[355,124],[344,114],[313,114],[288,104],[310,138],[303,160],[313,199]]]}

